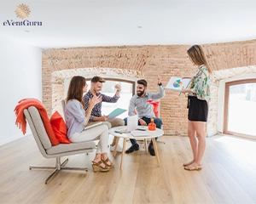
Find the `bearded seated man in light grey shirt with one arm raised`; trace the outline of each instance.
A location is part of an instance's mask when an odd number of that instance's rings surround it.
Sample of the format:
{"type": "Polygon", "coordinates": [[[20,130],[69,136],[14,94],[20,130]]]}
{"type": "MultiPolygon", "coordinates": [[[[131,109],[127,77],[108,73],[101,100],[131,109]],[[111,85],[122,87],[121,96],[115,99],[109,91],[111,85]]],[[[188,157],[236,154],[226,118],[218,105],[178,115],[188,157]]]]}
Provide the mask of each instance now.
{"type": "MultiPolygon", "coordinates": [[[[160,76],[158,76],[158,85],[159,85],[159,92],[156,94],[153,94],[153,93],[147,92],[146,80],[141,79],[137,81],[137,94],[135,94],[130,100],[128,116],[134,116],[137,114],[138,125],[148,126],[148,123],[151,121],[151,117],[154,117],[154,112],[152,111],[152,105],[149,104],[147,100],[159,100],[166,95],[165,89],[163,88],[161,83],[160,76]]],[[[125,125],[127,125],[127,118],[125,118],[124,120],[125,120],[125,125]]],[[[154,123],[156,127],[158,128],[162,127],[162,120],[160,118],[154,117],[154,123]]],[[[139,144],[137,144],[137,140],[136,139],[130,139],[130,140],[131,140],[131,147],[125,151],[126,154],[139,150],[139,144]]],[[[148,145],[148,151],[151,156],[155,156],[154,145],[152,143],[152,140],[148,145]]]]}

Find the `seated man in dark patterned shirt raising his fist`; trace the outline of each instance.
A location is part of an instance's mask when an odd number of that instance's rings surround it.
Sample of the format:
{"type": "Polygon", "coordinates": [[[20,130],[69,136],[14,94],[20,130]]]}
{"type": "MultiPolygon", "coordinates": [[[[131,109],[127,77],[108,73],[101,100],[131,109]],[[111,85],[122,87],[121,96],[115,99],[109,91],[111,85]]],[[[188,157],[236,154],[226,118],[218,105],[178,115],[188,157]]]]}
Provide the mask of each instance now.
{"type": "MultiPolygon", "coordinates": [[[[90,90],[84,94],[84,103],[85,103],[85,108],[87,110],[88,105],[89,105],[89,100],[93,98],[94,95],[102,97],[102,102],[107,102],[107,103],[116,103],[120,97],[120,90],[121,86],[119,84],[116,84],[114,88],[116,88],[116,92],[113,95],[113,97],[107,96],[105,94],[102,94],[100,91],[102,91],[102,83],[105,82],[105,80],[102,77],[92,77],[90,80],[90,90]]],[[[118,126],[124,126],[125,122],[121,118],[113,118],[113,119],[108,119],[108,116],[102,116],[102,102],[96,104],[94,108],[91,111],[90,115],[90,121],[88,125],[93,124],[94,122],[104,122],[108,125],[108,129],[111,127],[118,127],[118,126]]],[[[86,111],[85,110],[85,111],[86,111]]],[[[116,138],[113,138],[113,142],[110,146],[110,150],[113,150],[113,147],[115,145],[116,138]]],[[[118,146],[117,151],[121,152],[122,148],[118,146]]]]}

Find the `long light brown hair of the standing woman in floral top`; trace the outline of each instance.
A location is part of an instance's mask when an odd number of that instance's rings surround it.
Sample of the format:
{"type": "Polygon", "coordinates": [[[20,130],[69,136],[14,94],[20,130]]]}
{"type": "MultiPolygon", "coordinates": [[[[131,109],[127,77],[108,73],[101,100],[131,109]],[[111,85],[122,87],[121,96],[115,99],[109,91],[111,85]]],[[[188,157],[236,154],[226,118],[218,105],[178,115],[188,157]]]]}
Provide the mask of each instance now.
{"type": "Polygon", "coordinates": [[[208,72],[211,74],[212,69],[208,64],[206,54],[204,53],[203,48],[200,45],[193,45],[188,49],[187,53],[189,54],[189,58],[195,63],[195,65],[206,65],[208,72]]]}

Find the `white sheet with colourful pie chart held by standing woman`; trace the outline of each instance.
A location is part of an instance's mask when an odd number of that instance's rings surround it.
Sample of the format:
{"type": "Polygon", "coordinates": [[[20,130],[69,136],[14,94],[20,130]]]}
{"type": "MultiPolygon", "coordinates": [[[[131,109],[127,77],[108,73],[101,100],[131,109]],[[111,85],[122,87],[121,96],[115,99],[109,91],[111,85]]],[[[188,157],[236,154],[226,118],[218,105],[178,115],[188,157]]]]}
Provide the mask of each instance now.
{"type": "Polygon", "coordinates": [[[166,89],[181,92],[182,89],[187,88],[191,82],[190,78],[171,77],[166,85],[166,89]]]}

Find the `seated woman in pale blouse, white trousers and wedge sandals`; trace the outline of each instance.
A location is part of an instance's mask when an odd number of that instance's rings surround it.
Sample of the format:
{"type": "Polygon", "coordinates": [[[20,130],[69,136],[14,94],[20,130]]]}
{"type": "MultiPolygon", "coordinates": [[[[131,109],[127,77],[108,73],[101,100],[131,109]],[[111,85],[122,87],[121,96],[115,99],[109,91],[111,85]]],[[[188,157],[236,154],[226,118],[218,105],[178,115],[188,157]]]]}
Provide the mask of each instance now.
{"type": "Polygon", "coordinates": [[[114,166],[108,159],[107,153],[108,126],[102,124],[84,130],[84,126],[89,121],[91,110],[102,100],[101,97],[94,96],[90,99],[88,110],[85,112],[83,94],[87,91],[87,86],[85,78],[80,76],[73,77],[69,83],[64,114],[67,137],[73,143],[100,139],[96,149],[96,157],[92,161],[92,168],[94,172],[108,172],[114,166]]]}

